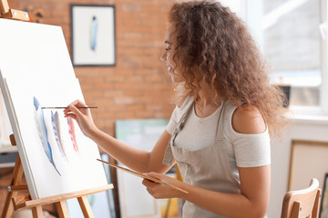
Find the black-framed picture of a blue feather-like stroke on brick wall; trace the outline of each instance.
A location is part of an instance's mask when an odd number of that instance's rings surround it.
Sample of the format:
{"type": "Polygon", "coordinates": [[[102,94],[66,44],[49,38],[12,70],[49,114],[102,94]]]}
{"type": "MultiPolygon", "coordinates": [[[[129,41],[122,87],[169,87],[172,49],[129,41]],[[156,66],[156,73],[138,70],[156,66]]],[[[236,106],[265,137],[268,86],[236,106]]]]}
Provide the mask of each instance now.
{"type": "Polygon", "coordinates": [[[115,6],[71,5],[71,48],[75,66],[115,65],[115,6]]]}

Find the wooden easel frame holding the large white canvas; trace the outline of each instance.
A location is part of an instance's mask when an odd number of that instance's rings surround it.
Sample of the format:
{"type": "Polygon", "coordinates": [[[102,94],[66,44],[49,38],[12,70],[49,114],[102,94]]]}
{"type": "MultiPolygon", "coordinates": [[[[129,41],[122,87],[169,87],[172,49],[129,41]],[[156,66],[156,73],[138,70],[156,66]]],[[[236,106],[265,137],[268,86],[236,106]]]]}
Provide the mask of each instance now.
{"type": "MultiPolygon", "coordinates": [[[[10,9],[6,0],[0,0],[0,18],[9,18],[23,21],[29,20],[29,16],[26,12],[10,9]]],[[[16,145],[14,134],[10,135],[10,142],[13,146],[16,145]]],[[[65,193],[56,196],[31,200],[29,194],[27,194],[26,196],[21,196],[21,198],[17,197],[19,192],[28,192],[27,185],[21,184],[23,173],[23,166],[18,154],[17,159],[15,161],[13,179],[7,188],[8,193],[5,198],[5,206],[1,214],[1,218],[10,218],[12,217],[14,210],[17,211],[28,208],[32,209],[33,217],[42,218],[42,205],[48,203],[55,203],[58,216],[60,218],[67,218],[69,217],[69,214],[67,210],[66,200],[72,198],[77,198],[82,213],[85,217],[94,217],[94,214],[91,210],[91,206],[87,201],[87,195],[92,193],[104,192],[108,189],[113,188],[113,184],[108,184],[102,187],[97,187],[75,193],[65,193]]]]}

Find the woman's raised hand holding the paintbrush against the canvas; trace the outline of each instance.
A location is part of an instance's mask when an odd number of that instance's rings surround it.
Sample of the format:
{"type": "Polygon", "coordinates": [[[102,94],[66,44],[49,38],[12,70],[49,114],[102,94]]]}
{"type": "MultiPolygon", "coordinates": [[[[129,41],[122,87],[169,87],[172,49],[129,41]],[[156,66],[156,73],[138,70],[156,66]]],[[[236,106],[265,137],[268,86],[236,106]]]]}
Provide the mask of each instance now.
{"type": "Polygon", "coordinates": [[[87,107],[87,104],[77,100],[68,105],[68,108],[64,110],[64,115],[76,120],[82,133],[87,137],[91,137],[97,131],[97,126],[93,122],[90,109],[77,107],[87,107]]]}

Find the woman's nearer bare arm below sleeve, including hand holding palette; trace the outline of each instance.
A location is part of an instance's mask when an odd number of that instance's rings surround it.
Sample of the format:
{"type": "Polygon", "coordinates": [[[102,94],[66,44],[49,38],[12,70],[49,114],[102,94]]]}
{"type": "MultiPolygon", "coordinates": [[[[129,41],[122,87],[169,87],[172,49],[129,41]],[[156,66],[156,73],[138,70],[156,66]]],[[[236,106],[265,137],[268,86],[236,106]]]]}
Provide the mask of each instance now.
{"type": "Polygon", "coordinates": [[[165,183],[170,183],[186,190],[182,193],[167,185],[144,180],[142,183],[155,198],[178,197],[195,203],[213,213],[227,217],[264,217],[270,197],[271,166],[239,168],[241,193],[217,193],[181,183],[160,173],[147,173],[165,183]]]}

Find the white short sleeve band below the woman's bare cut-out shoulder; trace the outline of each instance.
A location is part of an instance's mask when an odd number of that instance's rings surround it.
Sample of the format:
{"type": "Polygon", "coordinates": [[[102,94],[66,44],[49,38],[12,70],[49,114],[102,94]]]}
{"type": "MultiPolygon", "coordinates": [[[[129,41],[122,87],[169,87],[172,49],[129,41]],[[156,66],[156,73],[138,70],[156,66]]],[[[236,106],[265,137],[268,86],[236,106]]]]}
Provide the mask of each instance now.
{"type": "Polygon", "coordinates": [[[262,134],[235,135],[233,149],[238,167],[257,167],[271,163],[268,130],[262,134]]]}

